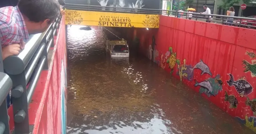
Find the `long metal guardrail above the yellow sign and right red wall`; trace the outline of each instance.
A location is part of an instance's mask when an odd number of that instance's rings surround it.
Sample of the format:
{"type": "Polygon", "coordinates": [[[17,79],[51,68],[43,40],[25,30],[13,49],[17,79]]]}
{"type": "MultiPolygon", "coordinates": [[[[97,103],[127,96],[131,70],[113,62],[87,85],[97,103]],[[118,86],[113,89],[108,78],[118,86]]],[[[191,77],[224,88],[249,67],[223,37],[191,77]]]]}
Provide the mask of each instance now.
{"type": "Polygon", "coordinates": [[[96,6],[96,5],[83,5],[83,4],[65,4],[67,10],[82,10],[82,11],[98,11],[98,12],[117,12],[117,13],[133,13],[133,14],[156,14],[171,17],[178,17],[183,19],[192,19],[196,21],[209,20],[214,23],[247,28],[256,28],[256,19],[246,17],[232,17],[225,15],[200,14],[194,12],[160,10],[160,9],[142,9],[142,8],[125,8],[125,7],[110,7],[110,6],[96,6]],[[190,15],[189,15],[190,14],[190,15]],[[227,22],[227,21],[231,22],[227,22]],[[253,22],[254,21],[254,22],[253,22]]]}

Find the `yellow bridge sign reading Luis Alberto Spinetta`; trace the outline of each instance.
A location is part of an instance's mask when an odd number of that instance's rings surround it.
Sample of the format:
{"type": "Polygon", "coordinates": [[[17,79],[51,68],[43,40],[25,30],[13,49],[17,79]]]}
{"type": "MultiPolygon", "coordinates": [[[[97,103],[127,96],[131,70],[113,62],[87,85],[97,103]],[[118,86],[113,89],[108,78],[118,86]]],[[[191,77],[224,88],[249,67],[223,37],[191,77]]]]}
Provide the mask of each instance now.
{"type": "Polygon", "coordinates": [[[159,15],[65,10],[66,25],[158,28],[159,15]]]}

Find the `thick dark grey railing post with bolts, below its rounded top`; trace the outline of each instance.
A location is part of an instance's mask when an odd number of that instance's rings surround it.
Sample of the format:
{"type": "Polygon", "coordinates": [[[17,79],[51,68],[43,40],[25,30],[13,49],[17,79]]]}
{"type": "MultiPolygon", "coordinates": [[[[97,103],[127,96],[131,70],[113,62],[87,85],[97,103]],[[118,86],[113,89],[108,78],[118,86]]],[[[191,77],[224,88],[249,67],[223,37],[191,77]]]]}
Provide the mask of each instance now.
{"type": "MultiPolygon", "coordinates": [[[[15,61],[13,61],[15,62],[15,61]]],[[[27,134],[30,133],[30,127],[28,123],[28,98],[26,90],[26,76],[25,71],[17,75],[8,74],[12,79],[12,87],[19,86],[23,88],[23,93],[20,97],[12,98],[12,109],[14,117],[15,134],[27,134]]],[[[13,91],[13,88],[12,88],[13,91]]],[[[32,128],[31,128],[32,130],[32,128]]]]}

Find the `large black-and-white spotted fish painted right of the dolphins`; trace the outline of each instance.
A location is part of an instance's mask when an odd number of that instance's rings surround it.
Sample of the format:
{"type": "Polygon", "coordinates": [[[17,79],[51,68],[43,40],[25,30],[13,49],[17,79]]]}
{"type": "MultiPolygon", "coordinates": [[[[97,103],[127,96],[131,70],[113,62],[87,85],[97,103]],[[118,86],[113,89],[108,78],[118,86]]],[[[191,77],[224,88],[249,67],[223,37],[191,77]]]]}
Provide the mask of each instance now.
{"type": "Polygon", "coordinates": [[[246,81],[245,77],[241,77],[235,81],[232,74],[228,75],[230,76],[230,79],[227,80],[228,86],[235,86],[237,93],[239,93],[241,97],[252,93],[253,87],[248,81],[246,81]]]}

